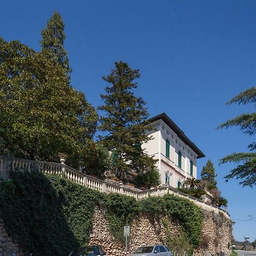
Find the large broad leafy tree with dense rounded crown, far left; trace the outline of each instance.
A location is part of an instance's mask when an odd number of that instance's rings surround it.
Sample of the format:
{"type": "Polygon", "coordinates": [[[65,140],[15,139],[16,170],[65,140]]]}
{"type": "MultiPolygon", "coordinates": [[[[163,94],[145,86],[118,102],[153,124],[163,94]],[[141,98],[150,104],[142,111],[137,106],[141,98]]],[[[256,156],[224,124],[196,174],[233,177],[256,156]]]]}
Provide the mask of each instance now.
{"type": "Polygon", "coordinates": [[[0,40],[3,146],[16,156],[46,161],[62,152],[77,167],[93,148],[97,113],[49,57],[18,41],[0,40]]]}

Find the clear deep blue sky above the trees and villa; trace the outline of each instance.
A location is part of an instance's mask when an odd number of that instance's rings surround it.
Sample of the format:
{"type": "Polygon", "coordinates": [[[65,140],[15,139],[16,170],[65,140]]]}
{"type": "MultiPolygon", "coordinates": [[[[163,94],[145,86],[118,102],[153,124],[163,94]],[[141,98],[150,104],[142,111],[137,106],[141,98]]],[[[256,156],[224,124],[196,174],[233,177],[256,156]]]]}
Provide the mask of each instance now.
{"type": "MultiPolygon", "coordinates": [[[[198,171],[211,159],[232,219],[256,216],[255,188],[224,182],[229,164],[218,160],[246,151],[255,141],[238,129],[216,130],[228,118],[255,111],[225,102],[256,82],[256,1],[1,1],[0,36],[40,51],[40,31],[58,11],[65,23],[65,48],[72,85],[93,106],[115,61],[140,69],[137,95],[151,116],[166,112],[204,152],[198,171]]],[[[237,221],[234,237],[256,238],[256,218],[237,221]]]]}

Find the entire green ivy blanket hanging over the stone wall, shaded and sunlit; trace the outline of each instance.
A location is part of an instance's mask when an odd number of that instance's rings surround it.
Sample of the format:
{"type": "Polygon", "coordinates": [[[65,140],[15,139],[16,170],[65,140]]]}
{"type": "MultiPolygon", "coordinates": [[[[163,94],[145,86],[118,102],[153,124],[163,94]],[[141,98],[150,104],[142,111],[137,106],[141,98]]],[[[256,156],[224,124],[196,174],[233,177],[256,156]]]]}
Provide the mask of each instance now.
{"type": "MultiPolygon", "coordinates": [[[[0,218],[25,254],[68,255],[73,248],[85,245],[96,205],[105,211],[110,232],[119,241],[123,225],[131,224],[139,213],[165,214],[178,221],[191,250],[201,240],[201,210],[187,199],[165,195],[136,201],[39,173],[14,173],[12,179],[13,184],[0,183],[0,218]]],[[[170,243],[175,245],[173,239],[170,243]]]]}

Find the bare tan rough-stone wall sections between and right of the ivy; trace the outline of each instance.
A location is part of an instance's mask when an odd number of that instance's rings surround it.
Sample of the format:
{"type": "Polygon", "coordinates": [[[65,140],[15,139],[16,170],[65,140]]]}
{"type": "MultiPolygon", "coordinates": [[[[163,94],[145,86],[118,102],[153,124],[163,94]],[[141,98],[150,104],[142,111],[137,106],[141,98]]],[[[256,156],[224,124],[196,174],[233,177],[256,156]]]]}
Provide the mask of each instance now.
{"type": "MultiPolygon", "coordinates": [[[[133,221],[127,254],[132,253],[142,245],[166,243],[167,234],[165,233],[166,229],[163,221],[166,222],[168,219],[166,217],[152,218],[147,214],[143,214],[133,221]]],[[[104,212],[101,212],[98,208],[94,209],[89,244],[101,244],[109,256],[125,255],[125,246],[121,242],[117,242],[109,230],[109,224],[106,221],[104,212]]],[[[179,224],[168,222],[168,235],[179,237],[179,230],[179,224]]],[[[195,255],[216,255],[220,251],[229,254],[231,234],[232,228],[229,220],[211,212],[204,212],[203,242],[195,251],[195,255]]]]}

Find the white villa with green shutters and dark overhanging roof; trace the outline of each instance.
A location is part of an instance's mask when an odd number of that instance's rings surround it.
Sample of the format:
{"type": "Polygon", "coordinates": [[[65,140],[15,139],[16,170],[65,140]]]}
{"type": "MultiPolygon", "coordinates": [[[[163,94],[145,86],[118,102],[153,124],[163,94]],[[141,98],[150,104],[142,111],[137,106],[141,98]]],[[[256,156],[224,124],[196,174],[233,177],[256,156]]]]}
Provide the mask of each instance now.
{"type": "Polygon", "coordinates": [[[154,139],[142,144],[150,156],[158,159],[161,184],[180,187],[187,177],[197,176],[196,160],[203,152],[183,133],[166,113],[149,119],[153,130],[148,131],[154,139]]]}

